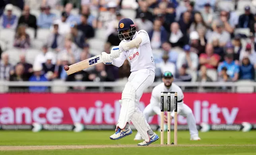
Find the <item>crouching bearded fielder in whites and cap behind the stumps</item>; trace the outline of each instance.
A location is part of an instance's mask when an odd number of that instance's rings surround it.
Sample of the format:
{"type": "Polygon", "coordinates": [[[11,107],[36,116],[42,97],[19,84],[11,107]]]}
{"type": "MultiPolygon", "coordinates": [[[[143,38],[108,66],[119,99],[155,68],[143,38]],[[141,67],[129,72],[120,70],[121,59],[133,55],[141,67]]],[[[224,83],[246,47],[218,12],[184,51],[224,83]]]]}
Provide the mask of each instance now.
{"type": "MultiPolygon", "coordinates": [[[[155,86],[151,93],[150,103],[147,105],[143,111],[143,114],[145,116],[146,120],[149,120],[149,117],[154,115],[161,115],[160,110],[160,101],[161,101],[161,95],[160,93],[163,91],[174,91],[177,92],[177,103],[178,103],[178,114],[182,115],[183,117],[186,117],[188,129],[190,132],[190,140],[201,140],[198,136],[198,130],[196,128],[196,119],[192,113],[192,110],[184,103],[184,95],[180,87],[173,83],[174,77],[173,73],[170,71],[166,71],[163,73],[162,76],[162,83],[155,86]],[[159,93],[160,92],[160,93],[159,93]]],[[[172,100],[172,98],[171,98],[172,100]]],[[[173,101],[171,101],[173,102],[173,101]]],[[[167,94],[164,94],[164,110],[167,111],[167,94]]],[[[174,117],[174,107],[171,106],[171,119],[174,117]]],[[[167,122],[167,116],[165,115],[165,122],[167,122]]],[[[136,134],[134,140],[141,140],[141,136],[139,132],[136,134]]]]}

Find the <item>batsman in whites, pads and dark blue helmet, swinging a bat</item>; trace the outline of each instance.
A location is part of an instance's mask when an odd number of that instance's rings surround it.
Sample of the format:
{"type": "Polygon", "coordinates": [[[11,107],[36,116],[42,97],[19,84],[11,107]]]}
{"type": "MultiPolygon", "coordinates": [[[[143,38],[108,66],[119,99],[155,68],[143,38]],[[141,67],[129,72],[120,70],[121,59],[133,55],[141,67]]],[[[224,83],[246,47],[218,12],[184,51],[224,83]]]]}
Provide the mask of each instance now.
{"type": "Polygon", "coordinates": [[[131,64],[131,74],[122,91],[122,99],[119,100],[122,106],[116,132],[110,136],[110,139],[119,140],[132,134],[129,127],[132,121],[144,139],[138,146],[147,146],[159,139],[139,109],[143,91],[155,79],[155,62],[149,36],[145,30],[137,32],[134,22],[125,18],[118,23],[118,37],[121,40],[119,46],[113,47],[110,54],[103,52],[101,58],[104,64],[113,64],[117,67],[122,66],[124,60],[128,59],[131,64]]]}

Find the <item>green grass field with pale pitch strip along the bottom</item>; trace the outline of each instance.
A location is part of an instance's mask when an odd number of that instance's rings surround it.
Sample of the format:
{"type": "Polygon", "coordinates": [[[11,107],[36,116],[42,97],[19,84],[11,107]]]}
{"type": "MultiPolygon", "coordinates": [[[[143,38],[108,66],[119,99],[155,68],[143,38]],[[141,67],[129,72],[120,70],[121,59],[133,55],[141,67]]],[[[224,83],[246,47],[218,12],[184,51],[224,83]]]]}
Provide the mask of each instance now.
{"type": "Polygon", "coordinates": [[[109,139],[113,133],[0,131],[0,155],[256,155],[256,131],[200,132],[201,141],[190,141],[188,131],[178,131],[178,146],[160,146],[158,140],[140,147],[133,140],[136,132],[115,141],[109,139]]]}

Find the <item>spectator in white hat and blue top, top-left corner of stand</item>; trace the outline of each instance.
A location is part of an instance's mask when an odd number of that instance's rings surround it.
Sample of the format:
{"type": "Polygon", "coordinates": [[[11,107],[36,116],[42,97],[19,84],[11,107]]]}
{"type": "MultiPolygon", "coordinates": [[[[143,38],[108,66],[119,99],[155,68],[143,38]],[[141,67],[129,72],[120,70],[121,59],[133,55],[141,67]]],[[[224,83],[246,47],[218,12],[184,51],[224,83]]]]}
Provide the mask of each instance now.
{"type": "Polygon", "coordinates": [[[13,9],[12,4],[7,4],[5,6],[5,10],[7,10],[7,13],[0,16],[1,27],[16,29],[18,19],[16,15],[12,14],[12,9],[13,9]]]}

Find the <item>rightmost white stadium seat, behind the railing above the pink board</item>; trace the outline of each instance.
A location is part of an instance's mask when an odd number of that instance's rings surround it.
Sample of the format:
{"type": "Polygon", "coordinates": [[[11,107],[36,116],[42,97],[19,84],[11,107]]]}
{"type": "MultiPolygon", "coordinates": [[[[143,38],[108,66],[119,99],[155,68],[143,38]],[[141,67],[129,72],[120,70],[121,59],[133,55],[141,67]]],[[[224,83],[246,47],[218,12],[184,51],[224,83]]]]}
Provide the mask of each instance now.
{"type": "Polygon", "coordinates": [[[248,86],[248,85],[254,85],[255,81],[250,80],[239,80],[236,82],[239,86],[237,86],[237,93],[253,93],[254,92],[254,86],[248,86]],[[247,86],[242,86],[247,85],[247,86]]]}

